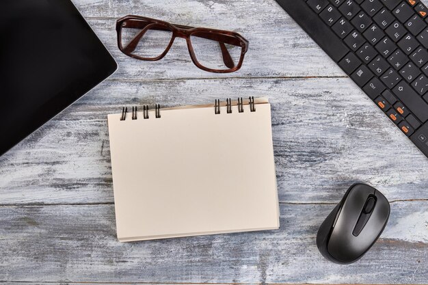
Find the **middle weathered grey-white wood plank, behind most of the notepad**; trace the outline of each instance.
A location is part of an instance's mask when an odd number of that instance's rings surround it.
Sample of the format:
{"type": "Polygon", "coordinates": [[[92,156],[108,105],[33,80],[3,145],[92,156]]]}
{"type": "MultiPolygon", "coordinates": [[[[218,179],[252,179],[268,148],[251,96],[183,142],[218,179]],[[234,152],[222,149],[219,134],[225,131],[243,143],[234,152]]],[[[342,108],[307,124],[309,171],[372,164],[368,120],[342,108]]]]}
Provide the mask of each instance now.
{"type": "Polygon", "coordinates": [[[0,158],[0,204],[113,202],[107,113],[250,95],[271,100],[281,201],[337,202],[356,181],[427,198],[426,157],[349,79],[210,79],[103,83],[0,158]]]}

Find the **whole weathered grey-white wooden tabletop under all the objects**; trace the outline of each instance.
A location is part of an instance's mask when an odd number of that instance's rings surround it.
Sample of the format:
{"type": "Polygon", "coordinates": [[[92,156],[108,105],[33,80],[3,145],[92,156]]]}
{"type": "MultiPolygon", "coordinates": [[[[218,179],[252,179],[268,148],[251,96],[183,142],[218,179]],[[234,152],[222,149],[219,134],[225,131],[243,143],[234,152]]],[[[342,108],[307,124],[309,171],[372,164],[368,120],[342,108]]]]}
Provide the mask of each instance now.
{"type": "MultiPolygon", "coordinates": [[[[0,283],[427,283],[428,159],[274,0],[74,0],[119,70],[0,158],[0,283]],[[230,29],[250,41],[243,68],[193,66],[177,39],[161,62],[116,47],[126,14],[230,29]],[[119,243],[107,114],[267,96],[280,230],[119,243]],[[315,245],[353,182],[390,200],[381,239],[340,266],[315,245]]],[[[3,134],[7,135],[7,134],[3,134]]]]}

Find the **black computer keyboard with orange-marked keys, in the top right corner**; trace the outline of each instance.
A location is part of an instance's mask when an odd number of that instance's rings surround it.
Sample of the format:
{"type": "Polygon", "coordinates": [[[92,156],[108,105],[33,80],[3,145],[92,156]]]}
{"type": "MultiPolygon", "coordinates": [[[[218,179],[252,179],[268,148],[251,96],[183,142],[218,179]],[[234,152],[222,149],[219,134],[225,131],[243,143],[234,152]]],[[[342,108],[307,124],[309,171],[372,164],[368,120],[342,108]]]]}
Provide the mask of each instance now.
{"type": "Polygon", "coordinates": [[[428,9],[415,0],[276,0],[428,157],[428,9]]]}

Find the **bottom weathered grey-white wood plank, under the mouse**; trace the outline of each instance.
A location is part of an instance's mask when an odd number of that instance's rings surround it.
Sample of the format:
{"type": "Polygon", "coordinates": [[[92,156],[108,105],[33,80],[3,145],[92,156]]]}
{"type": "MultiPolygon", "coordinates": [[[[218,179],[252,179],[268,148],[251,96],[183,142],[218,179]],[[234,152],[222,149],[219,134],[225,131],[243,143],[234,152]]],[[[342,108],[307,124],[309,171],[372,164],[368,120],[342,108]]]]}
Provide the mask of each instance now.
{"type": "Polygon", "coordinates": [[[340,266],[315,237],[332,205],[281,204],[280,230],[118,243],[113,205],[0,208],[0,280],[424,283],[428,202],[392,203],[382,238],[340,266]]]}

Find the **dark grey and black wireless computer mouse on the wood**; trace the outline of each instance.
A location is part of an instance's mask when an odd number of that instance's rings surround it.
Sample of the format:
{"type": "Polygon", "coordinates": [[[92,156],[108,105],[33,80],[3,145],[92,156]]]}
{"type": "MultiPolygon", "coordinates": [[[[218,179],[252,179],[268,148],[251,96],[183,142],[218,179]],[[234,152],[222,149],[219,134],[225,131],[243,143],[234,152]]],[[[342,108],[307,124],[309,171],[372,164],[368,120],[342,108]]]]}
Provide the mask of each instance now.
{"type": "Polygon", "coordinates": [[[318,230],[319,252],[338,264],[356,262],[382,234],[389,215],[382,193],[369,185],[352,185],[318,230]]]}

